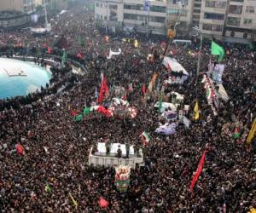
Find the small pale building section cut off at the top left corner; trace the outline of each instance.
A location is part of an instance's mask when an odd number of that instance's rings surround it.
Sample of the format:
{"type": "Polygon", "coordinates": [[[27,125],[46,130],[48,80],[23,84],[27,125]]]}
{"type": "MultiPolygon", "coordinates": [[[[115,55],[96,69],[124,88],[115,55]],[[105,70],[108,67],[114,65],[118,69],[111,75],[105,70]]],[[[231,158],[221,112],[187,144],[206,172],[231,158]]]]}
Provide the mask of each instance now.
{"type": "Polygon", "coordinates": [[[15,11],[32,14],[35,10],[35,0],[0,0],[0,11],[15,11]]]}

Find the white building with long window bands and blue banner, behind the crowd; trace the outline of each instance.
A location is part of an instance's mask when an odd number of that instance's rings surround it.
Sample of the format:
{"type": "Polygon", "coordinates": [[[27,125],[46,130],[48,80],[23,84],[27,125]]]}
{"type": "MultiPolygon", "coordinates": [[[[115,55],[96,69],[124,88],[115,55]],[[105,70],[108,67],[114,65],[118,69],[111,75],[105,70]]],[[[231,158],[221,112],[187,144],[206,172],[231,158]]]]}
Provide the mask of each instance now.
{"type": "Polygon", "coordinates": [[[98,0],[95,18],[105,25],[134,27],[138,32],[166,33],[166,1],[98,0]]]}

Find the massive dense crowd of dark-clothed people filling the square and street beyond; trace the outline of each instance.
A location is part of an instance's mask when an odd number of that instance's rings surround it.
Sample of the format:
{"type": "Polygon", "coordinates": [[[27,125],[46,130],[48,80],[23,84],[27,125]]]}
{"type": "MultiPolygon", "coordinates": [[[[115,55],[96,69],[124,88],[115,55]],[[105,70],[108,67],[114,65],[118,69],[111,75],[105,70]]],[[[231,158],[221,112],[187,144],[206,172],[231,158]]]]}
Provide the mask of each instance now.
{"type": "MultiPolygon", "coordinates": [[[[167,78],[165,66],[149,63],[147,55],[156,50],[162,54],[160,41],[140,43],[135,48],[121,39],[106,42],[96,33],[90,12],[71,9],[51,20],[55,34],[33,37],[29,32],[1,32],[1,43],[10,38],[22,41],[30,51],[32,47],[52,45],[55,36],[67,37],[67,52],[82,55],[79,60],[87,69],[84,76],[57,75],[55,81],[69,82],[61,94],[44,89],[42,93],[0,101],[0,210],[2,212],[247,212],[256,206],[256,155],[248,150],[245,138],[255,118],[255,52],[227,47],[224,63],[224,88],[230,101],[218,109],[215,116],[208,105],[205,89],[196,82],[196,56],[188,54],[197,47],[175,47],[174,57],[189,72],[183,85],[167,85],[166,93],[183,94],[184,104],[191,110],[188,117],[192,124],[189,130],[182,124],[174,135],[158,135],[154,130],[160,122],[159,112],[154,109],[154,98],[144,101],[143,83],[148,84],[153,72],[160,79],[167,78]],[[78,43],[78,35],[84,46],[78,43]],[[109,49],[120,55],[108,60],[109,49]],[[88,117],[81,122],[73,121],[70,109],[80,111],[96,101],[95,90],[101,84],[101,73],[113,85],[127,88],[133,85],[128,101],[137,108],[137,118],[118,119],[88,117]],[[79,83],[74,83],[78,82],[79,83]],[[195,99],[201,109],[199,121],[192,121],[195,99]],[[232,138],[234,125],[240,122],[241,137],[232,138]],[[224,126],[228,130],[224,131],[224,126]],[[139,135],[148,130],[151,141],[144,147],[144,156],[150,165],[131,172],[127,193],[119,193],[114,186],[114,170],[92,167],[87,164],[92,144],[97,141],[130,141],[142,146],[139,135]],[[22,144],[25,155],[15,151],[22,144]],[[207,155],[201,177],[194,193],[189,184],[201,154],[207,155]],[[51,188],[45,191],[46,184],[51,188]],[[73,205],[69,193],[78,202],[73,205]],[[98,200],[108,200],[107,209],[102,209],[98,200]],[[224,206],[226,210],[224,210],[224,206]]],[[[115,37],[122,37],[115,35],[115,37]]],[[[137,38],[140,41],[139,37],[137,38]]],[[[26,55],[27,52],[21,53],[26,55]]],[[[58,55],[60,50],[54,49],[58,55]]],[[[30,52],[30,54],[35,54],[30,52]]],[[[204,46],[201,72],[209,61],[209,47],[204,46]]],[[[73,56],[75,58],[75,56],[73,56]]],[[[157,59],[156,59],[157,60],[157,59]]],[[[55,71],[53,71],[55,72],[55,71]]]]}

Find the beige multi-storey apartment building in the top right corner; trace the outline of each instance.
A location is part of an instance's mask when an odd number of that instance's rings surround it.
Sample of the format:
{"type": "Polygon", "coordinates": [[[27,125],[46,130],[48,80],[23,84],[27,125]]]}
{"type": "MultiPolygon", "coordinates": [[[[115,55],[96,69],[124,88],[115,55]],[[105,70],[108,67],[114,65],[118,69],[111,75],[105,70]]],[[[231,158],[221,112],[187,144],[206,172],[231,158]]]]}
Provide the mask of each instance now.
{"type": "Polygon", "coordinates": [[[200,28],[205,37],[228,41],[253,40],[255,17],[254,0],[206,0],[201,2],[200,28]]]}

